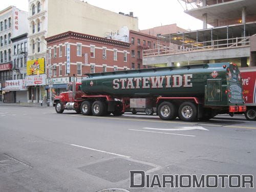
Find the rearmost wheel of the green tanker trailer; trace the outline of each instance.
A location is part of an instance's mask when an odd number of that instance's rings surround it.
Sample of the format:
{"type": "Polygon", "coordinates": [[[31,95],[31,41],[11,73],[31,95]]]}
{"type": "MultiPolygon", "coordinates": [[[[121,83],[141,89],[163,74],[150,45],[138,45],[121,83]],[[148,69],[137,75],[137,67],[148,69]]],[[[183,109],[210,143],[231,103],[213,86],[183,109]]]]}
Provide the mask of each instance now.
{"type": "Polygon", "coordinates": [[[183,121],[196,121],[197,106],[192,102],[183,102],[179,107],[179,117],[183,121]]]}

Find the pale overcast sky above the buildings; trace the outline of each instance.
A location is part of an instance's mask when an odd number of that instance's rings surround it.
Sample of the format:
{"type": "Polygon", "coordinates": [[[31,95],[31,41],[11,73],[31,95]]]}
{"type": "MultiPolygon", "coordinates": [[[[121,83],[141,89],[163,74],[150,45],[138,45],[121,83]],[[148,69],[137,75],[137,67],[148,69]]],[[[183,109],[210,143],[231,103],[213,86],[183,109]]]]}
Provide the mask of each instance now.
{"type": "MultiPolygon", "coordinates": [[[[28,0],[0,0],[0,10],[13,5],[28,11],[28,0]]],[[[139,29],[148,29],[161,25],[177,24],[186,30],[202,29],[203,23],[186,13],[178,0],[84,0],[91,5],[125,14],[134,12],[139,18],[139,29]]]]}

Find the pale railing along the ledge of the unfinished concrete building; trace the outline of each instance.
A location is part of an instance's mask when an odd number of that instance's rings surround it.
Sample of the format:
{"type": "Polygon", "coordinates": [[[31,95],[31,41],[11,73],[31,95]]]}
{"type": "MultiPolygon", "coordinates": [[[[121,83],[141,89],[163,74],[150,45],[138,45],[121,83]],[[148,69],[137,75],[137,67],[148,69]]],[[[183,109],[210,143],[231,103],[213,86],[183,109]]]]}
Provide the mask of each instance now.
{"type": "MultiPolygon", "coordinates": [[[[253,36],[255,36],[254,34],[253,36]]],[[[210,41],[195,42],[193,40],[180,40],[180,46],[162,46],[157,45],[156,49],[143,50],[143,57],[183,54],[197,51],[211,51],[219,49],[232,49],[250,46],[250,36],[228,39],[217,39],[210,41]],[[179,49],[178,49],[179,47],[179,49]]]]}

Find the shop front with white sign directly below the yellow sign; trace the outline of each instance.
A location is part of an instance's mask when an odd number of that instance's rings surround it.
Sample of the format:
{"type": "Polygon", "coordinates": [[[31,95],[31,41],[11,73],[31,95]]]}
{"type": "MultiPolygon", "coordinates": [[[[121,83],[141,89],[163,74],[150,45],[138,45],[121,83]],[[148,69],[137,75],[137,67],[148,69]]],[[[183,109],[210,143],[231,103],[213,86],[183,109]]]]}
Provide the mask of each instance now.
{"type": "Polygon", "coordinates": [[[28,102],[41,102],[46,97],[46,74],[26,76],[28,102]]]}

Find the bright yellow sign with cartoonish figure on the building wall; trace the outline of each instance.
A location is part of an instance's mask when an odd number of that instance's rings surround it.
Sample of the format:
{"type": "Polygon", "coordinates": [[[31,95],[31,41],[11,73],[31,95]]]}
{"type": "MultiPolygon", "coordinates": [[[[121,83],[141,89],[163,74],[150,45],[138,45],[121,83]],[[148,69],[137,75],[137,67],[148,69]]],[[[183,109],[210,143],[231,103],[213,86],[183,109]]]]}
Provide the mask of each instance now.
{"type": "Polygon", "coordinates": [[[45,58],[27,61],[27,75],[39,75],[45,73],[45,58]]]}

